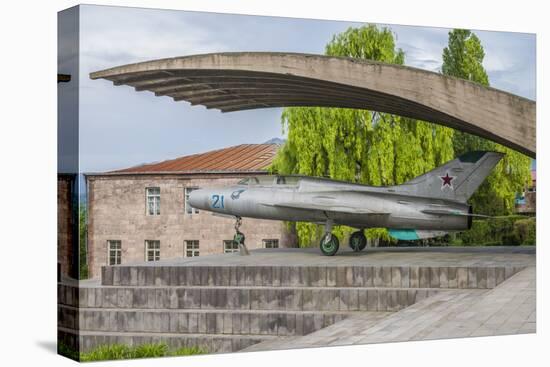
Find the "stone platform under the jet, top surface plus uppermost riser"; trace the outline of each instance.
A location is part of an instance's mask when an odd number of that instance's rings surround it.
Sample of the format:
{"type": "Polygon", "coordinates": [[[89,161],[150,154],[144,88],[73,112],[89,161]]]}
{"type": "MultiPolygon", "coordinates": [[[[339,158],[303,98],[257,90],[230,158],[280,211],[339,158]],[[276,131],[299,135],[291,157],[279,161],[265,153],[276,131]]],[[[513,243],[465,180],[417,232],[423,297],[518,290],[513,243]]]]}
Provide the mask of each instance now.
{"type": "Polygon", "coordinates": [[[103,267],[101,285],[484,289],[533,265],[533,251],[386,248],[326,257],[317,249],[264,249],[103,267]]]}

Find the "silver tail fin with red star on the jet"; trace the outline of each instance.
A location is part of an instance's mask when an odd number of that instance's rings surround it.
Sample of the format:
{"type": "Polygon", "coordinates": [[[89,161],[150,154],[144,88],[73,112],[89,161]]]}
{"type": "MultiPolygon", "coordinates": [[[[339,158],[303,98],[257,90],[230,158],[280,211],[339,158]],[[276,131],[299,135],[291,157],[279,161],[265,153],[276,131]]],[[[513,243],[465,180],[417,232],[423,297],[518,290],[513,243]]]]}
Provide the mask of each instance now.
{"type": "Polygon", "coordinates": [[[503,156],[498,152],[468,152],[402,186],[409,186],[407,189],[419,196],[465,203],[503,156]]]}

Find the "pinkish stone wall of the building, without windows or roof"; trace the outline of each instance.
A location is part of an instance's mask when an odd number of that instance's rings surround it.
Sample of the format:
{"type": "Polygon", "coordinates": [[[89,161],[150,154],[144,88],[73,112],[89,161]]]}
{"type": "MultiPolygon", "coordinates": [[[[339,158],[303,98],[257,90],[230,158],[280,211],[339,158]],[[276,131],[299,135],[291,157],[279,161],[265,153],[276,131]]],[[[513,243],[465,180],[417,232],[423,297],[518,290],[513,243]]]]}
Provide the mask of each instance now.
{"type": "MultiPolygon", "coordinates": [[[[89,276],[100,276],[107,265],[107,241],[122,242],[122,264],[145,260],[145,240],[160,241],[160,258],[185,256],[184,241],[199,240],[200,256],[222,253],[223,241],[234,234],[234,219],[200,211],[186,214],[185,187],[234,184],[243,176],[125,175],[88,176],[89,276]],[[147,187],[160,188],[160,215],[146,213],[147,187]]],[[[263,239],[278,239],[279,247],[294,241],[279,221],[244,219],[241,231],[250,249],[262,247],[263,239]]]]}

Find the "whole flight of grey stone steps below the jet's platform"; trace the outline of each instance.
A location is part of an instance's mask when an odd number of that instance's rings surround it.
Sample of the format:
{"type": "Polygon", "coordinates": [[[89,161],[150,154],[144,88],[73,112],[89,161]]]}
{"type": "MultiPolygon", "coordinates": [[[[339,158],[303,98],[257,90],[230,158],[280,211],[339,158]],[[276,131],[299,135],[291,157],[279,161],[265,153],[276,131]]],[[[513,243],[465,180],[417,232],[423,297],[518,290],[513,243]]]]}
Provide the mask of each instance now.
{"type": "Polygon", "coordinates": [[[307,335],[351,315],[374,319],[446,289],[494,288],[522,267],[198,266],[102,269],[58,285],[58,333],[76,350],[164,342],[209,352],[307,335]]]}

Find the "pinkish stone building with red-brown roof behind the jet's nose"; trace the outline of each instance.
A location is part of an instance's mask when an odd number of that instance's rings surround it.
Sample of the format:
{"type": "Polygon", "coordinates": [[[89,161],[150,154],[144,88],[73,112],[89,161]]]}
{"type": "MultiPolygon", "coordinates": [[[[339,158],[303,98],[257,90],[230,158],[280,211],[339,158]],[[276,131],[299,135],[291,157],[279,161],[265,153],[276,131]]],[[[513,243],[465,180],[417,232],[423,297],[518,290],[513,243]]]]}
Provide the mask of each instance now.
{"type": "MultiPolygon", "coordinates": [[[[187,204],[200,187],[266,175],[277,144],[246,144],[107,173],[86,174],[89,277],[101,266],[238,251],[235,220],[187,204]]],[[[250,249],[294,241],[280,221],[243,220],[250,249]]]]}

